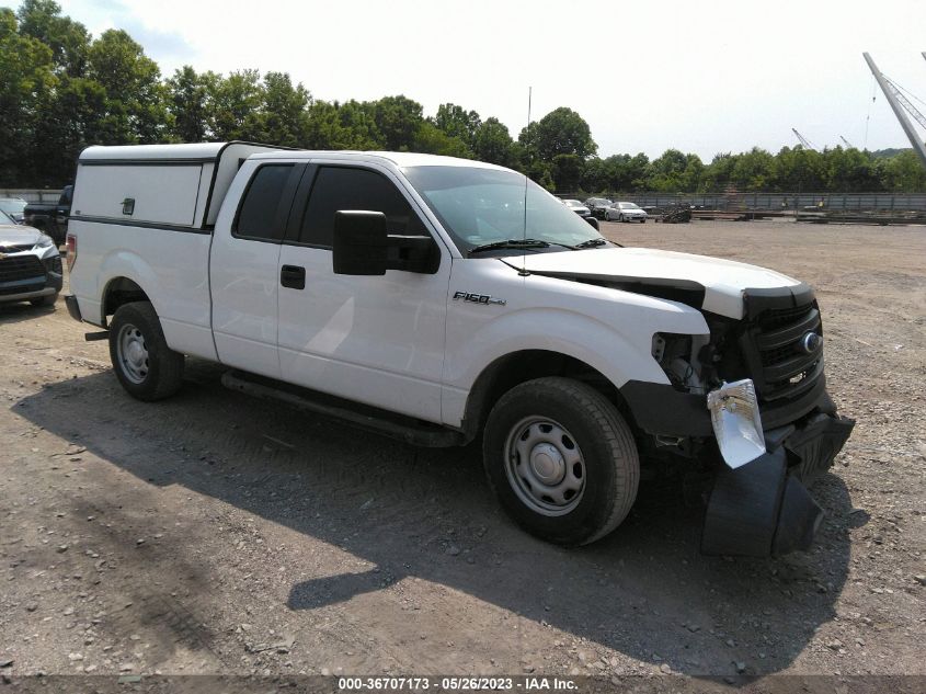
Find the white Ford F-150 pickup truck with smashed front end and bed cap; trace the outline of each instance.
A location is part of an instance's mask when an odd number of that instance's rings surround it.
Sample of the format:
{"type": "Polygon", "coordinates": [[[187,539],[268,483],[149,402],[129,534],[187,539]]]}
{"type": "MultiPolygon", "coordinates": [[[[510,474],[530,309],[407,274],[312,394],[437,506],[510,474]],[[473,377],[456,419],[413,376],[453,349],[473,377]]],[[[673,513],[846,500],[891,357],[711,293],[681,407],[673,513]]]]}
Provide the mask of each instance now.
{"type": "Polygon", "coordinates": [[[802,482],[853,422],[810,287],[622,248],[525,177],[445,157],[245,143],[91,147],[68,231],[71,315],[136,398],[224,383],[410,443],[482,437],[527,531],[617,527],[644,475],[700,475],[702,550],[807,548],[802,482]]]}

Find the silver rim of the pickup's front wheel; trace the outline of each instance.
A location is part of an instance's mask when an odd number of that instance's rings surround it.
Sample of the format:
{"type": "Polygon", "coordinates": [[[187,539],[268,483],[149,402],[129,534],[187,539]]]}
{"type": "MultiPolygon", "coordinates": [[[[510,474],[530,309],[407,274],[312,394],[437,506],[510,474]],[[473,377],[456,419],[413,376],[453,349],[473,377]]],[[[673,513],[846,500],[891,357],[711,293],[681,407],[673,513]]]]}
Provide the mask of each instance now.
{"type": "Polygon", "coordinates": [[[546,417],[528,417],[512,426],[505,475],[517,498],[541,515],[570,513],[585,492],[585,459],[575,437],[546,417]]]}

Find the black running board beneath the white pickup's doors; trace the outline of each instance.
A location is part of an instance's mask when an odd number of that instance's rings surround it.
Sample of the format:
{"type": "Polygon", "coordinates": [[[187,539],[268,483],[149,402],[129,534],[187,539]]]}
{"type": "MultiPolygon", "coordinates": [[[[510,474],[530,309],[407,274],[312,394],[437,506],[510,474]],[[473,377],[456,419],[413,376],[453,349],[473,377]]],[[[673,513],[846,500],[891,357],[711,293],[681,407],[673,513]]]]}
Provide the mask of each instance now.
{"type": "Polygon", "coordinates": [[[221,385],[230,390],[264,400],[278,400],[298,410],[332,417],[351,426],[416,446],[449,448],[466,444],[462,432],[392,414],[272,378],[229,371],[222,374],[221,385]]]}

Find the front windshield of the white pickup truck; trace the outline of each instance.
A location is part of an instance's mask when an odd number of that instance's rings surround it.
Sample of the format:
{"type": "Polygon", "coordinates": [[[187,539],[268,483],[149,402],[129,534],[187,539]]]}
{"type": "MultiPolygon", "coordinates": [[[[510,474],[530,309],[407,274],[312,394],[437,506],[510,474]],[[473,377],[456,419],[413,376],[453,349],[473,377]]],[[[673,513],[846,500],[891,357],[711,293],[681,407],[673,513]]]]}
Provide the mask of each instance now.
{"type": "MultiPolygon", "coordinates": [[[[578,246],[601,235],[579,215],[525,177],[480,167],[409,167],[405,177],[453,237],[460,252],[511,239],[578,246]]],[[[562,250],[550,247],[550,251],[562,250]]],[[[523,250],[506,249],[508,254],[523,250]]]]}

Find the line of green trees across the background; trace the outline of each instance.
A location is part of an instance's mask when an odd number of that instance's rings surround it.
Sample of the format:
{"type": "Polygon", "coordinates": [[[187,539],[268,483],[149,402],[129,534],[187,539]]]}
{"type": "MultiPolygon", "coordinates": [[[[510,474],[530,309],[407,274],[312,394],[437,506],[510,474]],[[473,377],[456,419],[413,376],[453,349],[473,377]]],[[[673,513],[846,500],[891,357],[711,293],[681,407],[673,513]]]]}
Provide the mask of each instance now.
{"type": "Polygon", "coordinates": [[[489,161],[551,191],[696,193],[923,192],[912,150],[784,147],[697,155],[668,149],[601,158],[588,124],[561,106],[514,138],[495,117],[446,103],[425,116],[405,95],[312,98],[286,72],[227,76],[184,66],[170,77],[125,31],[93,37],[54,0],[0,8],[0,186],[58,187],[89,145],[243,139],[305,149],[420,151],[489,161]]]}

